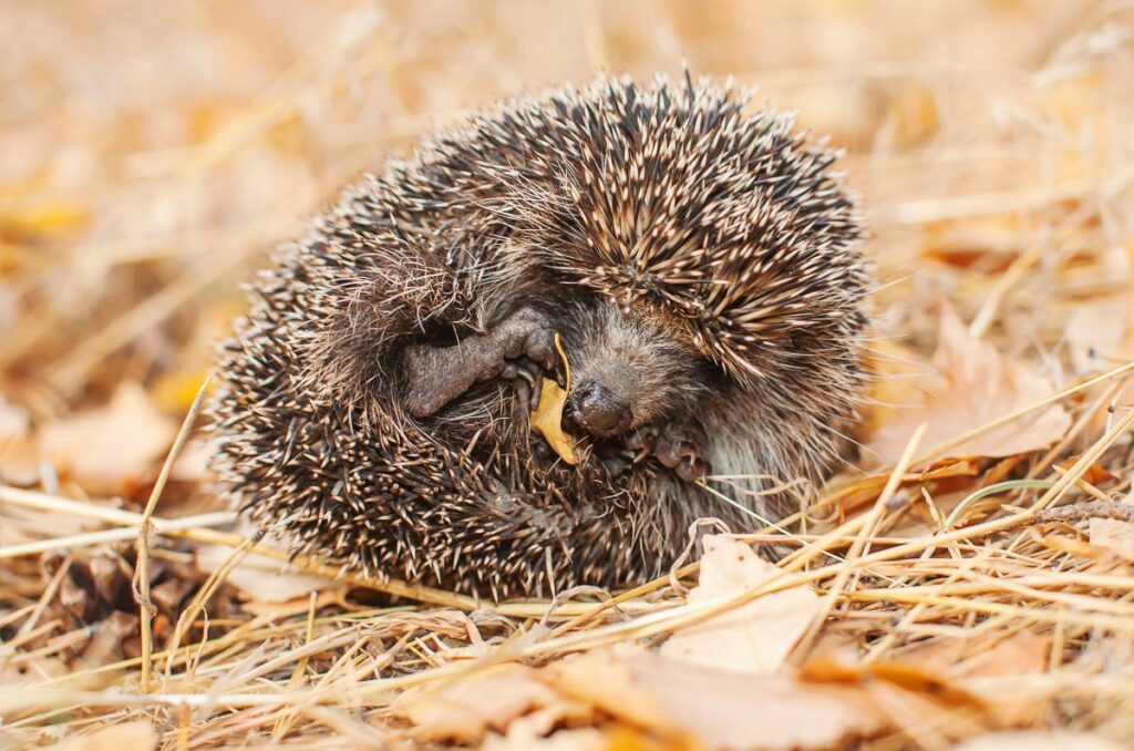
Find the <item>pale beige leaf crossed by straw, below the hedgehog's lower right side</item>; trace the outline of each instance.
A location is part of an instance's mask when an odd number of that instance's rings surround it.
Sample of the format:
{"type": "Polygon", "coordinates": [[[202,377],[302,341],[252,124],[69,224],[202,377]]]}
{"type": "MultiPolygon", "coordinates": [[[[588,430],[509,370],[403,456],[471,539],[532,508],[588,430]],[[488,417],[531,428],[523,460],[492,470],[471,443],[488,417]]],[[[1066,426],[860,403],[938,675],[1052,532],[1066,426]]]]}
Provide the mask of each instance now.
{"type": "MultiPolygon", "coordinates": [[[[743,542],[705,535],[701,580],[688,601],[704,602],[759,587],[779,569],[743,542]]],[[[663,657],[731,673],[775,673],[820,609],[807,587],[773,592],[693,627],[661,648],[663,657]]]]}

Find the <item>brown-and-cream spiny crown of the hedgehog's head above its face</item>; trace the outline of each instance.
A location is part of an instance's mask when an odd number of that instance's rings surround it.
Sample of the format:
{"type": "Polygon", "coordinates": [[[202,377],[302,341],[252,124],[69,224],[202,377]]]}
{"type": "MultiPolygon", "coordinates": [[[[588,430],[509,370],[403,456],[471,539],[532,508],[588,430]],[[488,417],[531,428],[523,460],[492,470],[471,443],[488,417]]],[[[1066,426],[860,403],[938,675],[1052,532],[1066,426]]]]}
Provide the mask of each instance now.
{"type": "Polygon", "coordinates": [[[746,104],[703,82],[608,81],[527,102],[482,134],[523,155],[489,171],[503,186],[497,219],[526,235],[525,268],[665,310],[742,380],[801,337],[853,329],[869,287],[835,153],[792,116],[746,104]]]}

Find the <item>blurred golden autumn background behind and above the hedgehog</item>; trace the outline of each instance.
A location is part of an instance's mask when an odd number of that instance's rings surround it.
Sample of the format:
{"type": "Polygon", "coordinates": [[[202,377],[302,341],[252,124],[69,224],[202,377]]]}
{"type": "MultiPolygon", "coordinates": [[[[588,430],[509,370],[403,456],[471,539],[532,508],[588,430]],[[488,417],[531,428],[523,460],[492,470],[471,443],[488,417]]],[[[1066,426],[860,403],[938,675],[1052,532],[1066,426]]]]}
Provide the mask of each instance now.
{"type": "Polygon", "coordinates": [[[160,461],[273,245],[423,132],[602,70],[797,110],[864,196],[880,346],[925,355],[948,303],[1066,383],[1129,353],[1132,31],[1117,1],[3,0],[0,480],[121,492],[93,445],[160,461]]]}

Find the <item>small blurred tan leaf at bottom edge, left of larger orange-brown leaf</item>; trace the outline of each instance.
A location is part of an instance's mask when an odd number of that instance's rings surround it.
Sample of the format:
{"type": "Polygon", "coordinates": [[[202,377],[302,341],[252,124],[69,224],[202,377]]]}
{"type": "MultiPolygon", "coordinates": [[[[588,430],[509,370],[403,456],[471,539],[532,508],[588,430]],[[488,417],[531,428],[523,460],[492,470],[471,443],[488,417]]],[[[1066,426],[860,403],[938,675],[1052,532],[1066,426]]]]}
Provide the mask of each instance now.
{"type": "MultiPolygon", "coordinates": [[[[536,670],[522,665],[502,665],[438,686],[407,691],[393,702],[393,710],[415,725],[420,741],[480,743],[490,731],[503,732],[518,717],[533,710],[549,710],[527,728],[550,727],[564,717],[587,716],[584,707],[559,697],[539,680],[536,670]]],[[[517,731],[521,732],[521,731],[517,731]]]]}

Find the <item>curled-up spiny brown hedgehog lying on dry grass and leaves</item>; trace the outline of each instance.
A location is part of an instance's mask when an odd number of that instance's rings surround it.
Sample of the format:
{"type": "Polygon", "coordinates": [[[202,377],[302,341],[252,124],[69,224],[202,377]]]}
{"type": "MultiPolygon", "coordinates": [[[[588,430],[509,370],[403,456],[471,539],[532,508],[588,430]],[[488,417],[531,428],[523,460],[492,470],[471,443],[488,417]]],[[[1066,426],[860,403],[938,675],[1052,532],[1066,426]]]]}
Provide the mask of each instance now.
{"type": "Polygon", "coordinates": [[[223,492],[296,555],[493,600],[797,505],[770,489],[846,445],[871,270],[837,153],[750,101],[607,77],[363,176],[221,347],[223,492]],[[574,458],[532,430],[555,389],[574,458]]]}

